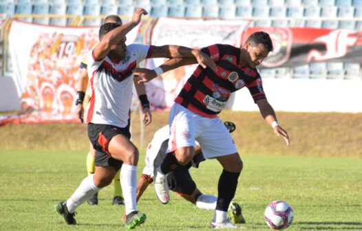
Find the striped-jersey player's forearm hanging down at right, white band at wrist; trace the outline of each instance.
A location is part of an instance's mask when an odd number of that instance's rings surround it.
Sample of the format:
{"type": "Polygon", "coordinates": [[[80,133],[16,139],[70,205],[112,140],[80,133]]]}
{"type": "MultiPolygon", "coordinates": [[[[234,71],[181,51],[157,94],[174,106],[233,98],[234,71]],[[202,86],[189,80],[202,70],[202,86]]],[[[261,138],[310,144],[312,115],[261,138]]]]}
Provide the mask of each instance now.
{"type": "Polygon", "coordinates": [[[274,133],[278,136],[284,137],[286,144],[289,145],[290,140],[288,133],[278,123],[275,111],[273,107],[271,107],[271,105],[269,104],[268,100],[257,100],[257,107],[259,107],[259,111],[260,113],[262,113],[264,120],[273,127],[274,133]]]}

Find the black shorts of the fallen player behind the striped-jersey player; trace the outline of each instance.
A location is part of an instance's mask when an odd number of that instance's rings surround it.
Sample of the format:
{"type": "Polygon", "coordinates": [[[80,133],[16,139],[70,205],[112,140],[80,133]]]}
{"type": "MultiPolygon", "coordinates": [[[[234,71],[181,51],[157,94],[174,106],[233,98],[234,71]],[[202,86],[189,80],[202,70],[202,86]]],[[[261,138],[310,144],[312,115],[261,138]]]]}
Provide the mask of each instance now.
{"type": "Polygon", "coordinates": [[[196,189],[195,181],[191,178],[189,169],[178,167],[167,175],[167,184],[173,192],[181,192],[186,195],[192,195],[196,189]]]}

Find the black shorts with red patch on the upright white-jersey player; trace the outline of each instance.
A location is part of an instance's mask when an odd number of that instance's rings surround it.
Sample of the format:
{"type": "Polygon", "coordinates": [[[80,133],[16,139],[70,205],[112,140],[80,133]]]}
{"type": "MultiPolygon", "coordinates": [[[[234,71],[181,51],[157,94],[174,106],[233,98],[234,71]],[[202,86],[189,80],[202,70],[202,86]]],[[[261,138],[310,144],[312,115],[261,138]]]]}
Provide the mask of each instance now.
{"type": "Polygon", "coordinates": [[[108,124],[88,124],[88,137],[93,148],[96,149],[96,166],[112,166],[116,170],[120,169],[123,162],[114,159],[108,152],[109,141],[118,134],[125,135],[125,137],[130,139],[129,124],[125,128],[108,124]]]}

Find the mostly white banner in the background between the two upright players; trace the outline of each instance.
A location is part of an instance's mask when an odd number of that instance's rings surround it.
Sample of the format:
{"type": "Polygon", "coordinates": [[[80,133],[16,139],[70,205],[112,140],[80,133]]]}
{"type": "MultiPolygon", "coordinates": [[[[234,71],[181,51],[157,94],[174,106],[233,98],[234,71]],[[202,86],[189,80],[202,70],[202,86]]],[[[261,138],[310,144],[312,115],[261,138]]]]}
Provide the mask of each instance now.
{"type": "MultiPolygon", "coordinates": [[[[248,21],[184,20],[160,18],[151,32],[152,45],[183,45],[202,48],[215,43],[239,46],[240,34],[248,21]]],[[[166,59],[150,59],[146,67],[153,69],[166,59]]],[[[179,67],[147,83],[147,96],[153,110],[171,108],[173,100],[191,76],[194,65],[179,67]]]]}

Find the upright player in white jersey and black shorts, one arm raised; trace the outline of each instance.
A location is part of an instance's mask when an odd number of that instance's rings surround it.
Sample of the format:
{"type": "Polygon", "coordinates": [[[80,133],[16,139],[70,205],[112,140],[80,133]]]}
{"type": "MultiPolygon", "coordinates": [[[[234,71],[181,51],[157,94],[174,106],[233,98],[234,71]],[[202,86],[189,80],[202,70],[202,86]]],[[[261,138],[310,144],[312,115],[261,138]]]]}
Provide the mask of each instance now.
{"type": "Polygon", "coordinates": [[[140,23],[147,12],[138,8],[129,23],[105,23],[100,27],[100,42],[89,52],[87,72],[92,86],[92,99],[88,106],[88,136],[93,147],[103,153],[97,155],[109,166],[96,166],[94,175],[83,179],[66,202],[55,205],[56,212],[65,223],[74,225],[74,212],[89,197],[111,183],[120,170],[120,183],[127,214],[125,227],[135,228],[146,220],[146,214],[136,208],[138,149],[129,140],[129,109],[131,107],[132,70],[145,58],[195,57],[202,67],[216,69],[215,63],[200,50],[178,45],[131,44],[125,45],[126,34],[140,23]]]}

